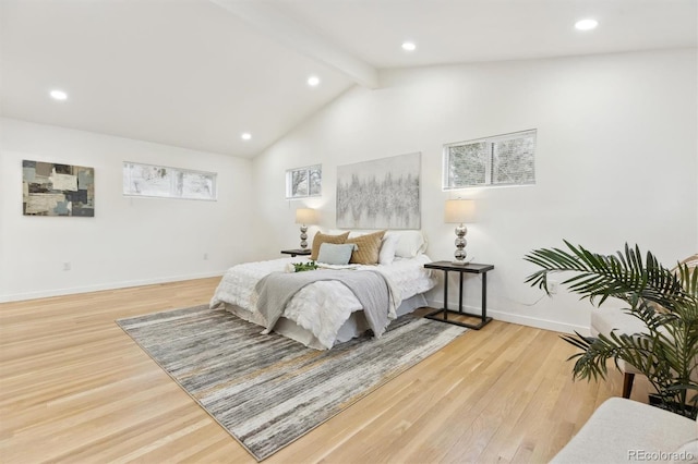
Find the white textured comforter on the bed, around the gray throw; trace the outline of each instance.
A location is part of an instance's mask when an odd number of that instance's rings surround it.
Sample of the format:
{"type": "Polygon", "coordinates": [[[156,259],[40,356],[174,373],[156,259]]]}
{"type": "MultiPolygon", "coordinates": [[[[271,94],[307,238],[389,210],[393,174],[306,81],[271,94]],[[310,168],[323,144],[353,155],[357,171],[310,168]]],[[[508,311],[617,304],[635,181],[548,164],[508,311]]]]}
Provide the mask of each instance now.
{"type": "MultiPolygon", "coordinates": [[[[285,271],[290,262],[300,262],[305,258],[280,258],[268,261],[255,261],[237,265],[224,274],[213,298],[210,307],[220,303],[238,306],[250,314],[248,320],[262,323],[255,310],[256,294],[254,286],[264,276],[274,271],[285,271]]],[[[389,266],[351,266],[377,270],[390,283],[390,290],[398,306],[419,293],[432,289],[436,281],[424,264],[431,262],[426,255],[414,258],[396,258],[389,266]]],[[[332,347],[339,328],[351,313],[363,309],[354,294],[337,281],[321,281],[303,288],[286,306],[284,317],[311,331],[326,347],[332,347]]],[[[395,318],[392,310],[390,318],[395,318]]]]}

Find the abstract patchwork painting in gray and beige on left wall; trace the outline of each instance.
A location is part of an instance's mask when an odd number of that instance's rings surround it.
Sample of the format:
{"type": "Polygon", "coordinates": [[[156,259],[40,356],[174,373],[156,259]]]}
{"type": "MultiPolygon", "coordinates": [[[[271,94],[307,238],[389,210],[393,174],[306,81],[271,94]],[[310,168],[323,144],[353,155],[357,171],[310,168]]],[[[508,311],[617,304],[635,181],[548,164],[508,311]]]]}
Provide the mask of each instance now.
{"type": "Polygon", "coordinates": [[[22,161],[24,216],[95,216],[95,169],[22,161]]]}

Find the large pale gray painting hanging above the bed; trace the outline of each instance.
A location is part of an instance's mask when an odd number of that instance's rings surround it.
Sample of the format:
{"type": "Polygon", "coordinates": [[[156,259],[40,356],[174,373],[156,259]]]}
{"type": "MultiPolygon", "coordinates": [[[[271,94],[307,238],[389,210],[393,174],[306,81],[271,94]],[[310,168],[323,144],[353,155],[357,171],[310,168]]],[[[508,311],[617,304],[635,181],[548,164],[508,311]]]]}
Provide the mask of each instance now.
{"type": "Polygon", "coordinates": [[[337,167],[337,227],[420,229],[421,154],[337,167]]]}

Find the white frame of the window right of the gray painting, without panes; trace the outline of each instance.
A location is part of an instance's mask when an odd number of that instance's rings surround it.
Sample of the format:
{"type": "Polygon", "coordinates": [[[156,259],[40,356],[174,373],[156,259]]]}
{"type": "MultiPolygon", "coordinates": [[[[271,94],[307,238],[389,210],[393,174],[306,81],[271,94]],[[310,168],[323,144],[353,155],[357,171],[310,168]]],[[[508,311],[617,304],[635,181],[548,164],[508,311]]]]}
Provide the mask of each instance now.
{"type": "Polygon", "coordinates": [[[481,187],[506,187],[506,186],[527,186],[535,185],[535,147],[538,142],[538,130],[529,129],[526,131],[512,132],[508,134],[493,135],[489,137],[476,138],[466,142],[455,142],[450,144],[444,144],[442,156],[442,190],[454,191],[465,188],[481,188],[481,187]],[[506,141],[532,138],[532,180],[530,182],[495,182],[494,172],[494,148],[495,144],[506,141]],[[484,156],[484,178],[482,183],[467,184],[467,185],[453,185],[452,183],[452,148],[461,147],[467,145],[485,144],[484,156]]]}

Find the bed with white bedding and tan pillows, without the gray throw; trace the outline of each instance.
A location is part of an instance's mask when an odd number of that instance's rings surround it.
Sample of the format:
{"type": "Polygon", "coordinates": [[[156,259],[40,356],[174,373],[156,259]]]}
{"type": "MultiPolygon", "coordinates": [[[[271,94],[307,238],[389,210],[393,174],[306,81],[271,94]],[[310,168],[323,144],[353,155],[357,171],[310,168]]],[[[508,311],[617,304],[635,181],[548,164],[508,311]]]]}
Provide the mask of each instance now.
{"type": "Polygon", "coordinates": [[[375,330],[371,312],[364,310],[361,303],[365,300],[360,301],[357,293],[347,286],[347,282],[341,281],[341,276],[350,272],[353,279],[369,273],[380,274],[385,281],[384,286],[388,295],[388,305],[383,310],[389,322],[426,305],[424,293],[434,288],[436,281],[431,271],[424,269],[424,264],[431,262],[423,253],[425,247],[426,243],[420,231],[317,233],[313,240],[313,255],[310,257],[245,262],[228,269],[209,306],[222,306],[244,320],[263,326],[265,332],[273,330],[316,350],[332,349],[335,344],[359,337],[369,329],[380,337],[382,330],[375,330]],[[377,242],[376,235],[380,235],[377,242]],[[374,244],[373,247],[369,241],[374,244]],[[333,259],[325,259],[327,253],[323,258],[321,252],[347,244],[353,244],[352,262],[345,265],[341,259],[339,264],[333,259]],[[357,259],[359,251],[370,252],[368,262],[373,259],[376,262],[364,264],[365,259],[357,259]],[[264,314],[264,305],[258,305],[260,298],[263,297],[263,283],[272,277],[284,278],[284,273],[292,273],[294,265],[311,262],[315,262],[320,269],[303,272],[303,277],[324,278],[304,284],[292,293],[288,301],[284,301],[279,305],[282,307],[278,308],[280,317],[274,320],[273,327],[268,327],[269,320],[268,315],[264,314]]]}

